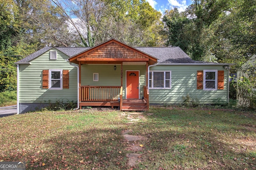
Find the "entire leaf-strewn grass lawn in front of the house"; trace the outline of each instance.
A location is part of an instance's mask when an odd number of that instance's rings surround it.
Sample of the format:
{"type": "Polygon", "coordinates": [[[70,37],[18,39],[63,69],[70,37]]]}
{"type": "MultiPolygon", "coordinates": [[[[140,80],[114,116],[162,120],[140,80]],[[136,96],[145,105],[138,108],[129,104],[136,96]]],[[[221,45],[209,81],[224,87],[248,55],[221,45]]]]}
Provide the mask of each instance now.
{"type": "Polygon", "coordinates": [[[127,124],[122,112],[82,109],[0,118],[0,161],[26,169],[129,169],[122,131],[146,140],[133,169],[256,169],[256,115],[250,111],[150,107],[127,124]],[[147,115],[147,113],[153,113],[147,115]]]}

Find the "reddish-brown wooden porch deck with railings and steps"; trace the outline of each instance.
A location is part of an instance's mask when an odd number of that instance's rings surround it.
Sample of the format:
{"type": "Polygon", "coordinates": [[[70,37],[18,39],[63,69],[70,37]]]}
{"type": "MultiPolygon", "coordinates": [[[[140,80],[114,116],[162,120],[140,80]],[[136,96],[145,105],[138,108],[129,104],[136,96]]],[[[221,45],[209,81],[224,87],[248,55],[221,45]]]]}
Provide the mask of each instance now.
{"type": "Polygon", "coordinates": [[[81,86],[79,107],[111,106],[123,111],[146,111],[149,107],[148,88],[144,86],[142,99],[123,99],[122,86],[81,86]]]}

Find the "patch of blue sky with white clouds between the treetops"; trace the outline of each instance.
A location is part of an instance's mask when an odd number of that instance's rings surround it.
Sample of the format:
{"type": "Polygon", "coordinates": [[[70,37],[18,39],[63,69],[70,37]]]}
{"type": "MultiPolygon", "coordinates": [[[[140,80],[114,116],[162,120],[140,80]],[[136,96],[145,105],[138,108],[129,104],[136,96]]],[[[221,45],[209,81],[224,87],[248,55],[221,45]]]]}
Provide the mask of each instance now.
{"type": "Polygon", "coordinates": [[[165,10],[170,10],[173,8],[178,8],[179,12],[184,11],[190,4],[192,0],[146,0],[155,9],[164,14],[165,10]]]}

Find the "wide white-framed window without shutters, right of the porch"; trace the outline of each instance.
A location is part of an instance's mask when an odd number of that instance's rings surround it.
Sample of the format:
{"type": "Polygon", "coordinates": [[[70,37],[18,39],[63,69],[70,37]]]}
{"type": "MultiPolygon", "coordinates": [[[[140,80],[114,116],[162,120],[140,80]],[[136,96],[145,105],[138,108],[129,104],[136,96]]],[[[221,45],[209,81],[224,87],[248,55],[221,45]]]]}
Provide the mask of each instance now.
{"type": "Polygon", "coordinates": [[[171,71],[150,71],[149,88],[170,89],[171,71]]]}

